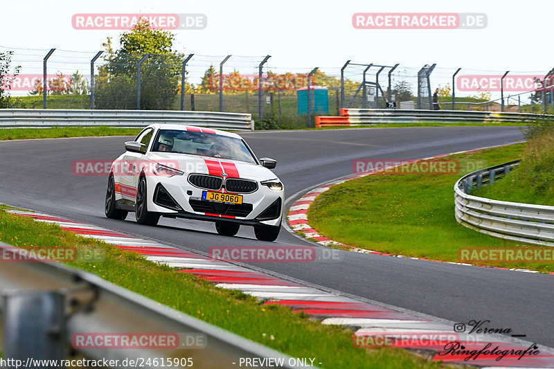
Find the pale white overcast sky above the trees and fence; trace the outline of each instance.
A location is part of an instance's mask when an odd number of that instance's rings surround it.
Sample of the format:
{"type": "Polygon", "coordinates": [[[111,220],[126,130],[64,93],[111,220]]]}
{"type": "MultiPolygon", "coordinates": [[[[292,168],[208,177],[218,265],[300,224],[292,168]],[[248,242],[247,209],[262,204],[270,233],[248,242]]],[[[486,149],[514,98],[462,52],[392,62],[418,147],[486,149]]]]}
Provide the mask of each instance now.
{"type": "MultiPolygon", "coordinates": [[[[57,48],[51,61],[58,63],[52,64],[58,70],[79,62],[79,68],[87,71],[87,62],[102,49],[106,37],[118,39],[122,32],[75,29],[71,18],[76,13],[206,15],[207,26],[202,30],[173,31],[177,50],[199,55],[192,64],[192,78],[209,64],[218,64],[221,57],[217,55],[227,54],[250,57],[232,57],[226,64],[242,73],[253,73],[260,56],[267,54],[271,55],[268,66],[278,72],[319,66],[338,74],[346,60],[355,60],[400,63],[407,75],[415,74],[423,64],[436,63],[434,84],[447,82],[458,66],[465,73],[483,74],[508,70],[540,74],[554,66],[552,1],[51,0],[5,1],[2,8],[0,46],[57,48]],[[352,15],[357,12],[485,13],[488,22],[481,29],[356,29],[352,15]]],[[[44,54],[43,50],[19,51],[23,73],[40,73],[44,54]]],[[[353,69],[349,76],[355,78],[358,72],[353,69]]]]}

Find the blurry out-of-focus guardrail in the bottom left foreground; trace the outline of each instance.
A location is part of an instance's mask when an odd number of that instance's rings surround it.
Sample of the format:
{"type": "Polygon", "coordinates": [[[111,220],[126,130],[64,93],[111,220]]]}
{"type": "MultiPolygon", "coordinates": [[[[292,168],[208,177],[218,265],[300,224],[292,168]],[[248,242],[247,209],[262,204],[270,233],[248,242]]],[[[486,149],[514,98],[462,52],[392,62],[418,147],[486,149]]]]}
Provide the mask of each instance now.
{"type": "MultiPolygon", "coordinates": [[[[177,349],[153,347],[156,343],[150,343],[152,348],[140,350],[78,348],[73,352],[87,359],[119,360],[117,367],[120,368],[132,367],[121,365],[125,359],[138,359],[142,366],[152,368],[190,367],[190,362],[175,361],[182,358],[193,358],[193,368],[232,368],[239,366],[241,357],[274,358],[272,363],[283,359],[283,366],[278,368],[294,368],[288,365],[290,357],[285,354],[160,305],[91,273],[53,262],[31,262],[21,249],[2,242],[0,253],[3,258],[0,267],[0,352],[4,359],[19,359],[23,363],[28,357],[67,359],[74,334],[166,332],[178,334],[179,343],[182,336],[188,337],[190,342],[184,340],[185,348],[179,345],[177,349]],[[171,359],[171,363],[167,359],[171,359]],[[148,362],[152,364],[146,365],[148,362]]],[[[116,347],[114,339],[111,344],[116,347]]],[[[260,364],[260,367],[267,366],[260,364]]]]}

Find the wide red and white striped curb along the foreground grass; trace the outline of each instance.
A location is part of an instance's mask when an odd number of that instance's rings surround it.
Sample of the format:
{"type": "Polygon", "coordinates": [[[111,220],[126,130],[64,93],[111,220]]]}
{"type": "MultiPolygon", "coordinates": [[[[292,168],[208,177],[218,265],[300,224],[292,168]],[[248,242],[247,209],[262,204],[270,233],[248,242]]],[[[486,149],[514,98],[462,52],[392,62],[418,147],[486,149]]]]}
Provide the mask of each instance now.
{"type": "MultiPolygon", "coordinates": [[[[204,278],[216,287],[243,291],[245,294],[263,300],[265,305],[287,306],[292,309],[294,314],[309,314],[314,318],[322,319],[321,323],[325,325],[348,325],[353,330],[352,344],[355,344],[359,338],[370,339],[376,336],[388,337],[393,340],[401,338],[394,341],[392,347],[427,350],[431,353],[431,360],[434,361],[442,360],[448,363],[490,368],[554,368],[554,354],[550,352],[551,350],[554,352],[554,350],[550,348],[540,348],[540,353],[532,357],[524,356],[517,359],[515,355],[507,355],[500,361],[496,361],[497,357],[490,354],[481,354],[477,359],[470,361],[465,361],[465,356],[461,354],[440,355],[439,353],[444,350],[447,342],[434,337],[439,337],[440,334],[452,335],[455,333],[452,325],[438,320],[397,312],[355,298],[332,294],[328,291],[253,271],[247,267],[208,258],[159,242],[125,235],[107,228],[73,222],[62,217],[34,211],[6,211],[14,215],[32,217],[37,222],[57,224],[66,231],[105,241],[121,250],[140,253],[148,260],[176,268],[179,273],[191,273],[199,278],[204,278]],[[406,340],[406,336],[411,339],[406,340]]],[[[479,339],[473,339],[470,335],[466,335],[460,340],[468,350],[479,350],[485,343],[492,343],[492,347],[498,345],[499,350],[526,350],[531,344],[510,339],[508,336],[490,334],[479,334],[478,336],[479,339]]]]}

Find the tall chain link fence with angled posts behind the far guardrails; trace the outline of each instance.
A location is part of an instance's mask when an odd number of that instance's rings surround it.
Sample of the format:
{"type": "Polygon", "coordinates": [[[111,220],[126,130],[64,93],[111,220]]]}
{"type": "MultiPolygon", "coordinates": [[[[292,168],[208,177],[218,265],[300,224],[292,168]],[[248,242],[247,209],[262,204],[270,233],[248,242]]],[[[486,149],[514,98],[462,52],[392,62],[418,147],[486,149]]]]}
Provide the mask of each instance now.
{"type": "MultiPolygon", "coordinates": [[[[21,66],[17,75],[2,75],[2,89],[12,96],[5,107],[229,111],[251,113],[269,128],[310,125],[306,87],[313,66],[283,66],[269,55],[3,46],[0,53],[12,54],[14,71],[21,66]]],[[[437,88],[440,109],[539,112],[554,107],[552,71],[456,73],[456,68],[431,63],[414,67],[349,60],[343,66],[319,66],[311,78],[309,110],[321,116],[339,115],[341,107],[433,109],[437,88]]]]}

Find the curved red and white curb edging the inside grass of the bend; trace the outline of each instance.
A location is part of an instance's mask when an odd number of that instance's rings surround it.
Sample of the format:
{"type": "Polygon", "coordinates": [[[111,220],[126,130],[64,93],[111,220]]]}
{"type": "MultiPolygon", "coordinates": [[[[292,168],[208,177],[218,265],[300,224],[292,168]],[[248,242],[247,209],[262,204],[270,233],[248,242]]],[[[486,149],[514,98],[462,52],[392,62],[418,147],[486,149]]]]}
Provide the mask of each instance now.
{"type": "MultiPolygon", "coordinates": [[[[512,145],[512,144],[510,144],[512,145]]],[[[502,146],[508,146],[508,145],[499,145],[499,146],[492,146],[492,147],[502,147],[502,146]]],[[[445,154],[445,155],[439,155],[439,156],[431,156],[429,158],[425,159],[417,159],[413,161],[404,161],[403,163],[414,163],[416,161],[422,161],[422,160],[431,160],[431,159],[438,159],[445,156],[450,156],[454,154],[463,154],[465,152],[474,152],[479,150],[484,150],[492,147],[483,147],[481,149],[475,149],[475,150],[467,150],[467,151],[461,151],[461,152],[454,152],[452,154],[445,154]]],[[[385,167],[382,170],[388,170],[393,168],[393,166],[385,167]]],[[[379,170],[380,172],[380,170],[379,170]]],[[[444,262],[447,264],[457,264],[457,265],[465,265],[467,267],[482,267],[482,268],[492,268],[492,269],[503,269],[503,270],[509,270],[509,271],[523,271],[525,273],[539,273],[539,271],[534,271],[530,269],[518,269],[518,268],[501,268],[501,267],[492,267],[489,265],[473,265],[473,264],[467,264],[462,262],[445,262],[443,260],[429,260],[425,258],[413,258],[413,257],[407,257],[404,255],[393,255],[391,253],[384,253],[381,251],[373,251],[368,249],[359,249],[355,246],[351,246],[348,244],[343,244],[341,242],[337,242],[334,240],[330,240],[329,238],[319,234],[316,229],[314,229],[312,226],[310,226],[310,223],[307,219],[307,212],[310,209],[310,206],[315,201],[316,197],[321,195],[323,192],[329,190],[332,186],[337,186],[341,183],[344,183],[346,181],[350,181],[352,179],[358,179],[362,177],[367,177],[368,175],[375,174],[377,172],[370,172],[370,173],[362,173],[362,174],[350,174],[346,177],[341,177],[339,179],[335,179],[333,181],[326,182],[324,184],[321,184],[318,188],[314,188],[313,190],[310,190],[306,192],[302,197],[294,201],[292,205],[289,208],[289,213],[287,214],[287,222],[289,225],[289,228],[296,234],[303,238],[306,238],[308,240],[312,240],[313,242],[316,242],[317,244],[321,244],[322,246],[332,246],[332,247],[338,247],[346,251],[354,251],[357,253],[372,253],[375,255],[384,255],[384,256],[393,256],[395,258],[407,258],[412,260],[424,260],[428,262],[444,262]]],[[[554,272],[550,272],[548,274],[554,275],[554,272]]]]}

